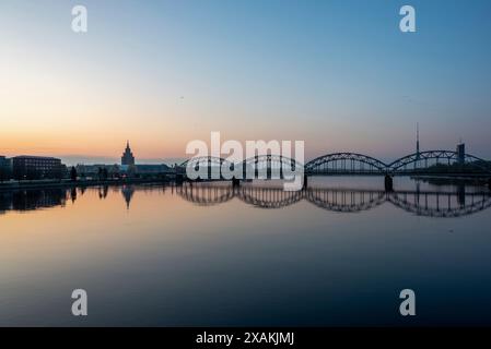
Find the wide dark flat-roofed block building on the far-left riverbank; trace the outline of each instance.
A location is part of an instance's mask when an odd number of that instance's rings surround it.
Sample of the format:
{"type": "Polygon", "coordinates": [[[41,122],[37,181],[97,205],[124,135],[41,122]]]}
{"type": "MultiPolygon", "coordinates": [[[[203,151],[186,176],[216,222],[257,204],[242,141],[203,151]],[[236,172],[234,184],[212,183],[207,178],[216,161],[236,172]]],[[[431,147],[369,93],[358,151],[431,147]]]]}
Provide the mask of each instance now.
{"type": "Polygon", "coordinates": [[[54,157],[15,156],[12,158],[14,179],[61,178],[61,160],[54,157]]]}

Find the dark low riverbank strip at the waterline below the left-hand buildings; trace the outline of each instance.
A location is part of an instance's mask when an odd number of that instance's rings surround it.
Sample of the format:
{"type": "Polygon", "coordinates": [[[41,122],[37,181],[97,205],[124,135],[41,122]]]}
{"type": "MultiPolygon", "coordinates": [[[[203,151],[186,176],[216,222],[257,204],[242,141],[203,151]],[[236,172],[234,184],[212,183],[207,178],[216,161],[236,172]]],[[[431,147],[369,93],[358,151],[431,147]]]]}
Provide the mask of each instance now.
{"type": "Polygon", "coordinates": [[[77,181],[72,181],[72,180],[9,181],[9,182],[0,183],[0,191],[74,188],[74,186],[169,183],[173,180],[174,180],[174,178],[168,176],[163,179],[131,178],[131,179],[77,180],[77,181]]]}

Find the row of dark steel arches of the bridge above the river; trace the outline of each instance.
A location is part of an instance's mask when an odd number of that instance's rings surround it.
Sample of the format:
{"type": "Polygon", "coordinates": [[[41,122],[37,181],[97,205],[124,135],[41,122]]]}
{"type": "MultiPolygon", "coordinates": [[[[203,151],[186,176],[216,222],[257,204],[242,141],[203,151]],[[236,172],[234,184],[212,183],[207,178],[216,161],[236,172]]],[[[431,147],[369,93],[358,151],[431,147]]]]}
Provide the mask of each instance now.
{"type": "Polygon", "coordinates": [[[230,169],[242,167],[243,178],[283,178],[287,173],[305,174],[411,174],[426,173],[484,173],[491,176],[491,164],[477,156],[459,154],[454,151],[425,151],[406,155],[390,164],[385,164],[372,156],[359,153],[332,153],[319,156],[305,166],[295,159],[281,155],[257,155],[241,163],[232,163],[221,157],[192,157],[180,164],[176,171],[184,172],[189,166],[198,170],[207,167],[208,173],[215,173],[210,179],[221,179],[223,165],[230,169]],[[442,165],[446,165],[443,167],[442,165]],[[214,168],[212,171],[211,168],[214,168]]]}

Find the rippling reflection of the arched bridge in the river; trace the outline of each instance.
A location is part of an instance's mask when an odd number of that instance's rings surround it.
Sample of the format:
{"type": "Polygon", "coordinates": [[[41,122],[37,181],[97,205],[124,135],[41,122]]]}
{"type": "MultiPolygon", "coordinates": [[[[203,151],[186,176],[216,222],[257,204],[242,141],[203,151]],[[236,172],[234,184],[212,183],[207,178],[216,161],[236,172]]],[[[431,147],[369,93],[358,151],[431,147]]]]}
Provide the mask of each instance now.
{"type": "Polygon", "coordinates": [[[394,191],[308,188],[302,191],[284,191],[282,188],[256,185],[213,185],[210,183],[177,186],[177,193],[186,201],[201,206],[218,205],[233,198],[260,208],[281,208],[306,201],[313,205],[339,213],[359,213],[384,203],[418,216],[460,217],[491,206],[491,192],[465,189],[457,191],[394,191]]]}

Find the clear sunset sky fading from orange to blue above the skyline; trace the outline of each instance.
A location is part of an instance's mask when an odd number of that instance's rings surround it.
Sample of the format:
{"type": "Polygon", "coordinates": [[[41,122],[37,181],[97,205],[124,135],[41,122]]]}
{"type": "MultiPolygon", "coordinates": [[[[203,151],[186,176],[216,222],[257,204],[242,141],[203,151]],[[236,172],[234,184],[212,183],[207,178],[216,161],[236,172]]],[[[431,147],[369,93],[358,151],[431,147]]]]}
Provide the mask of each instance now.
{"type": "Polygon", "coordinates": [[[2,0],[0,155],[137,163],[192,140],[305,141],[306,159],[491,158],[491,1],[2,0]],[[71,29],[72,7],[89,32],[71,29]],[[399,31],[416,9],[417,32],[399,31]]]}

